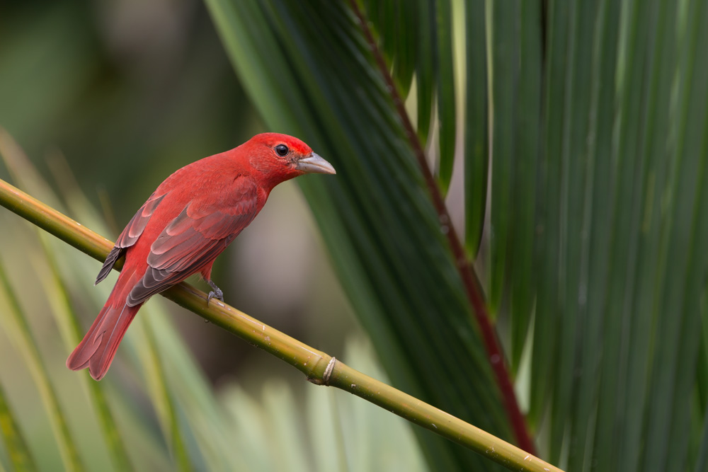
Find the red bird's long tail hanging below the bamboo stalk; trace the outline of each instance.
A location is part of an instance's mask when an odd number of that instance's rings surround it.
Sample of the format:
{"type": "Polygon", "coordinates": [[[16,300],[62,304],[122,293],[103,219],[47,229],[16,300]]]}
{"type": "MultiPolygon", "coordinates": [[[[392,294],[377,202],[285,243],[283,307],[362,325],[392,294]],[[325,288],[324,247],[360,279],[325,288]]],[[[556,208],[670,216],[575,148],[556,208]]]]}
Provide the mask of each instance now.
{"type": "Polygon", "coordinates": [[[74,352],[67,359],[67,367],[72,370],[81,370],[89,367],[93,379],[101,380],[110,362],[113,361],[115,351],[118,350],[120,340],[130,322],[142,304],[128,306],[125,303],[127,294],[134,285],[132,279],[135,274],[128,274],[123,270],[118,277],[113,292],[110,292],[108,301],[96,316],[89,332],[81,340],[74,352]],[[121,280],[124,279],[124,280],[121,280]]]}

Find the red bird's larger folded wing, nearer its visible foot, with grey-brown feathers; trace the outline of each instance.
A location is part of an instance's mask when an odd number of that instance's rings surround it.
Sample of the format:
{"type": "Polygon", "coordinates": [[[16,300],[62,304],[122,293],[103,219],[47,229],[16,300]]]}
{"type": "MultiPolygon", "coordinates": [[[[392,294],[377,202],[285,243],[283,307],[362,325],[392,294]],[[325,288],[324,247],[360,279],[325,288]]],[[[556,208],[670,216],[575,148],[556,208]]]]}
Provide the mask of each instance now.
{"type": "Polygon", "coordinates": [[[128,294],[126,303],[140,304],[202,270],[251,223],[257,212],[256,184],[245,177],[234,180],[228,201],[205,202],[205,198],[200,198],[189,202],[152,243],[147,271],[128,294]]]}

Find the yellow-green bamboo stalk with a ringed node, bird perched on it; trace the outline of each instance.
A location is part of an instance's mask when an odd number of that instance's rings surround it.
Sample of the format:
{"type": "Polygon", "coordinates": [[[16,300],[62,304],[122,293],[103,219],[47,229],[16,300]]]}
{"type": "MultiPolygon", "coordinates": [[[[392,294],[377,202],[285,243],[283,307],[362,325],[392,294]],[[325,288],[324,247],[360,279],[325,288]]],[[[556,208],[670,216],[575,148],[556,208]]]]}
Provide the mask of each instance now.
{"type": "MultiPolygon", "coordinates": [[[[0,205],[57,236],[96,260],[103,261],[113,243],[82,226],[66,215],[48,207],[22,190],[0,180],[0,205]]],[[[334,357],[314,349],[285,333],[267,326],[232,306],[212,299],[209,306],[204,292],[181,283],[162,293],[164,297],[197,313],[207,321],[228,330],[260,347],[303,372],[318,385],[341,388],[395,413],[416,425],[440,434],[452,442],[486,456],[514,471],[555,471],[526,451],[488,432],[455,418],[438,408],[372,379],[334,357]]]]}

